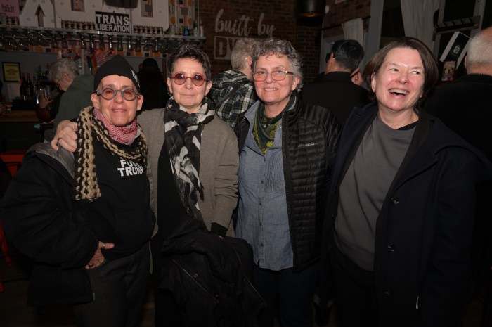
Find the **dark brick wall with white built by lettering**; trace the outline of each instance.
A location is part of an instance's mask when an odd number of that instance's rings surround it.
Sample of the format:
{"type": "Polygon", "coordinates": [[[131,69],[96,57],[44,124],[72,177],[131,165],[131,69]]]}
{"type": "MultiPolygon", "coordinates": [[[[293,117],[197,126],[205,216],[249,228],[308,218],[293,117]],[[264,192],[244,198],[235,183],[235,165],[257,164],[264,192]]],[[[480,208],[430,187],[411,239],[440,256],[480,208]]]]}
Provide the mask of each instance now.
{"type": "MultiPolygon", "coordinates": [[[[336,5],[335,0],[326,0],[326,4],[330,6],[330,11],[325,17],[325,26],[340,25],[344,21],[365,17],[370,13],[370,0],[346,0],[336,5]]],[[[223,46],[224,42],[245,36],[265,38],[266,27],[273,25],[273,37],[291,41],[294,48],[302,53],[304,79],[306,82],[312,81],[319,70],[321,22],[318,25],[306,26],[299,24],[295,15],[295,0],[201,0],[200,20],[207,37],[203,49],[212,60],[212,75],[230,68],[230,60],[221,59],[231,50],[223,46]],[[262,14],[264,16],[259,22],[262,14]],[[220,16],[217,20],[218,15],[220,16]],[[260,28],[259,23],[262,23],[260,28]],[[226,30],[224,27],[232,28],[226,30]]],[[[365,25],[367,22],[368,20],[365,20],[365,25]]],[[[330,28],[324,32],[325,37],[337,34],[343,34],[342,27],[330,28]]]]}

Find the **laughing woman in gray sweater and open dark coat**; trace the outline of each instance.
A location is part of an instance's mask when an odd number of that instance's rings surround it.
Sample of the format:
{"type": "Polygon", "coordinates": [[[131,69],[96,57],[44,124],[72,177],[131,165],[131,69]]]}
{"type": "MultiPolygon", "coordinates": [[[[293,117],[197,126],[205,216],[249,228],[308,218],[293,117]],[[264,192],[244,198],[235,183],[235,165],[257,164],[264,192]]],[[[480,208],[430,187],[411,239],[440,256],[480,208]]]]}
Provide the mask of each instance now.
{"type": "Polygon", "coordinates": [[[344,124],[323,228],[337,316],[342,326],[459,326],[474,186],[491,164],[421,110],[438,78],[421,41],[387,44],[363,76],[376,102],[344,124]]]}

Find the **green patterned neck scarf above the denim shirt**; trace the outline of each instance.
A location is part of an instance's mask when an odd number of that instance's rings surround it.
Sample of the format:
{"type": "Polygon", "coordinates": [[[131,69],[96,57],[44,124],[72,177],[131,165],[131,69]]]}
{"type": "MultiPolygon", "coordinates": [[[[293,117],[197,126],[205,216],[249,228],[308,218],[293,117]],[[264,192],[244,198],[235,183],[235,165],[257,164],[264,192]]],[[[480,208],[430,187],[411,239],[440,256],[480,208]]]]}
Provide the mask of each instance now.
{"type": "Polygon", "coordinates": [[[283,113],[285,110],[289,110],[294,106],[296,101],[295,92],[290,94],[289,103],[285,105],[282,112],[276,115],[275,117],[268,118],[265,116],[265,105],[260,102],[257,114],[254,117],[254,125],[253,125],[253,137],[254,141],[257,142],[261,153],[265,154],[266,150],[270,148],[275,140],[275,132],[277,130],[278,122],[282,119],[283,113]]]}

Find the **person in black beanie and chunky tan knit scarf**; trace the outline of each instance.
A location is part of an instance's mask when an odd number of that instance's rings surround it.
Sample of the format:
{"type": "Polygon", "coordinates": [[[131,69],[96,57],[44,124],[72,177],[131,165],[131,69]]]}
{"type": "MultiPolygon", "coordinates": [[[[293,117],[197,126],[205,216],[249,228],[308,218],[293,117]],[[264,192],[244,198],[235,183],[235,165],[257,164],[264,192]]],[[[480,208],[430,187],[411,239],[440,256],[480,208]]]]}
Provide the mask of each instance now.
{"type": "Polygon", "coordinates": [[[1,201],[1,223],[34,260],[28,304],[72,304],[77,326],[136,327],[155,224],[135,120],[143,98],[121,56],[98,68],[93,90],[75,155],[33,146],[1,201]]]}

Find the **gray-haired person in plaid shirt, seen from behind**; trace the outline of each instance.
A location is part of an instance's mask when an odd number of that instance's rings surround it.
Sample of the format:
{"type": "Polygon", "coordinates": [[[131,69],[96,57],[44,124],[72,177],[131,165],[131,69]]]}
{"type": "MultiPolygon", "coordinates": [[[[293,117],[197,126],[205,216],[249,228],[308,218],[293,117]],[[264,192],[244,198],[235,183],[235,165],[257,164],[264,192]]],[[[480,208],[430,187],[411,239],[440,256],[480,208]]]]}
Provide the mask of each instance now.
{"type": "Polygon", "coordinates": [[[231,52],[233,70],[221,72],[212,79],[208,96],[215,101],[217,115],[232,128],[238,115],[258,100],[251,71],[251,52],[257,43],[250,38],[238,39],[231,52]]]}

